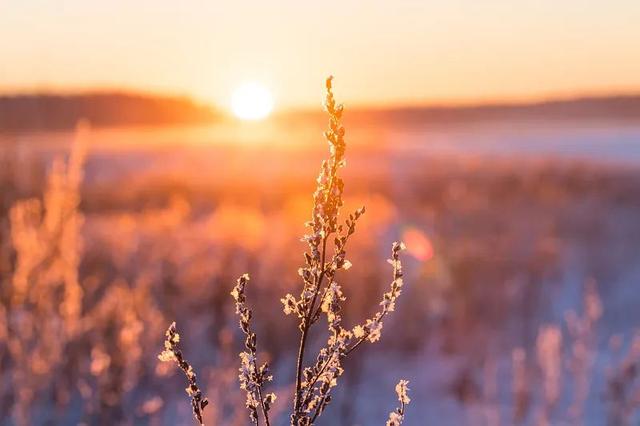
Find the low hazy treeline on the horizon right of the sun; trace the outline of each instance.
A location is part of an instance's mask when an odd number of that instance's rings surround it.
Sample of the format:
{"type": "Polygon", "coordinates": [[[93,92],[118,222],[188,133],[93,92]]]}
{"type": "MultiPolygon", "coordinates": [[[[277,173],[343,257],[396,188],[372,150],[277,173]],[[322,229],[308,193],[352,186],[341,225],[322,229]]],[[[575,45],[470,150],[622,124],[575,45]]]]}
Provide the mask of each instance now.
{"type": "MultiPolygon", "coordinates": [[[[293,113],[321,119],[316,111],[293,113]]],[[[282,116],[285,117],[284,115],[282,116]]],[[[291,116],[286,117],[290,119],[291,116]]],[[[463,106],[347,108],[345,119],[357,124],[448,124],[515,120],[627,120],[640,121],[640,95],[585,97],[532,103],[463,106]]]]}

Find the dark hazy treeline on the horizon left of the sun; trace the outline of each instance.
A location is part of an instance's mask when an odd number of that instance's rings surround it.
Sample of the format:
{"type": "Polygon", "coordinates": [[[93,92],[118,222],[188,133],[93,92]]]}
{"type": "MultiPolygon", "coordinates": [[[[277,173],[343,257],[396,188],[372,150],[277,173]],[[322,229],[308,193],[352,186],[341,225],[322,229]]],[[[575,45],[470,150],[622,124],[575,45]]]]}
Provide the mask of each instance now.
{"type": "Polygon", "coordinates": [[[217,114],[187,97],[128,93],[0,96],[0,130],[73,128],[79,120],[93,126],[170,125],[211,122],[217,114]]]}

